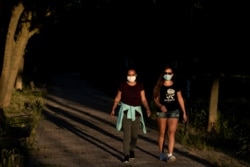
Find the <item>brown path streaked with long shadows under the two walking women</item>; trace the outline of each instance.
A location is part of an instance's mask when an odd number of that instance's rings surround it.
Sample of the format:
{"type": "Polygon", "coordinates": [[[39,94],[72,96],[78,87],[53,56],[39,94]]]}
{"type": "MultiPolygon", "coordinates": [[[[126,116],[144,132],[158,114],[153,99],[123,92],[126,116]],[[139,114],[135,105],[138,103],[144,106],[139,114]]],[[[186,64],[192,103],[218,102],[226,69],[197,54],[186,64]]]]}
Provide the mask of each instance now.
{"type": "MultiPolygon", "coordinates": [[[[125,166],[122,132],[115,129],[116,118],[109,112],[112,98],[92,88],[79,74],[53,77],[48,88],[47,105],[26,167],[119,167],[125,166]]],[[[205,159],[214,153],[190,151],[176,143],[177,161],[158,160],[157,131],[141,132],[134,167],[212,167],[205,159]]],[[[219,155],[219,154],[218,154],[219,155]]],[[[216,155],[217,156],[217,155],[216,155]]],[[[226,161],[222,155],[219,161],[226,161]],[[224,158],[224,159],[223,159],[224,158]]],[[[229,164],[232,167],[234,163],[229,164]]],[[[237,164],[238,165],[238,164],[237,164]]]]}

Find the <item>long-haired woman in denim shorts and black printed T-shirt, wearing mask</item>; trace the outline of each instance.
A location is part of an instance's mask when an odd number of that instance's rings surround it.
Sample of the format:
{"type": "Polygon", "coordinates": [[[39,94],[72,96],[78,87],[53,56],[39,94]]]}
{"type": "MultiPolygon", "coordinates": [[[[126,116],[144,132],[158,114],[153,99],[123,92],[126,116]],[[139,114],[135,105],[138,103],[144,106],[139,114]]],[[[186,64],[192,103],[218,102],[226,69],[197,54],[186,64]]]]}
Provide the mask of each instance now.
{"type": "Polygon", "coordinates": [[[181,89],[173,80],[174,73],[171,66],[166,66],[160,75],[153,90],[153,99],[157,106],[157,123],[159,128],[158,145],[162,161],[172,162],[176,160],[173,155],[175,133],[182,111],[183,122],[187,121],[187,115],[181,89]],[[164,153],[165,136],[168,136],[168,153],[164,153]]]}

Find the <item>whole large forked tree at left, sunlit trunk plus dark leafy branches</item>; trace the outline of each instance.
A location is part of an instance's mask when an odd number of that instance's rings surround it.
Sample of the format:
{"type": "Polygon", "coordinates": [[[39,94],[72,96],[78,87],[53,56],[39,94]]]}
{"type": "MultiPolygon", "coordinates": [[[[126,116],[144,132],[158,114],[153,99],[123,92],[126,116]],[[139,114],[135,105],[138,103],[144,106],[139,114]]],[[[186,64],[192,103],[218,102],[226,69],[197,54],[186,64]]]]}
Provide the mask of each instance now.
{"type": "MultiPolygon", "coordinates": [[[[6,31],[7,34],[0,78],[1,108],[10,105],[15,82],[18,81],[19,84],[17,85],[19,85],[19,88],[22,87],[20,85],[20,79],[24,65],[24,54],[29,39],[40,32],[41,25],[45,25],[44,18],[54,14],[55,9],[58,9],[60,14],[62,14],[71,7],[76,8],[77,6],[72,5],[72,2],[76,1],[69,0],[63,3],[53,0],[42,2],[18,1],[13,4],[8,31],[6,31]]],[[[8,5],[11,4],[9,1],[5,3],[8,3],[8,5]]]]}

